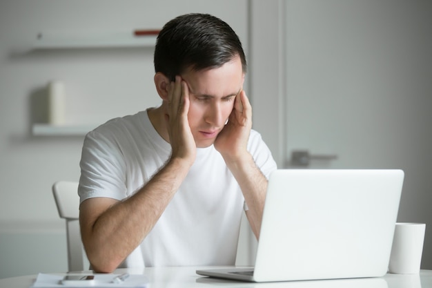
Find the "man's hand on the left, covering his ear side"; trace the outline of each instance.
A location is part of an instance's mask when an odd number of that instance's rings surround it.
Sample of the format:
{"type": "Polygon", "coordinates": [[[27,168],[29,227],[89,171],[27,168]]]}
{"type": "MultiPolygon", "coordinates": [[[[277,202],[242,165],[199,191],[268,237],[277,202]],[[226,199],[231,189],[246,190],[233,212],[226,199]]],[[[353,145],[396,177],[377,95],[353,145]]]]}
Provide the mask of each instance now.
{"type": "Polygon", "coordinates": [[[197,145],[190,131],[188,122],[189,89],[181,77],[176,76],[175,82],[168,86],[168,109],[166,121],[170,144],[173,148],[171,158],[188,160],[190,165],[195,161],[197,145]]]}

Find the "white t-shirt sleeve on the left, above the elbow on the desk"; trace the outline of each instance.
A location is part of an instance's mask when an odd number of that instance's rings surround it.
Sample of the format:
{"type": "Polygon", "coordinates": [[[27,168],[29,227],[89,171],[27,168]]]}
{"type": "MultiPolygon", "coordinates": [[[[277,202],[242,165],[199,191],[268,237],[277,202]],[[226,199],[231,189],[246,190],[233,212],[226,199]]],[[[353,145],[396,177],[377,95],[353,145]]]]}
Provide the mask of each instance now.
{"type": "Polygon", "coordinates": [[[126,163],[119,142],[112,135],[91,131],[82,148],[80,203],[89,198],[126,198],[126,163]]]}

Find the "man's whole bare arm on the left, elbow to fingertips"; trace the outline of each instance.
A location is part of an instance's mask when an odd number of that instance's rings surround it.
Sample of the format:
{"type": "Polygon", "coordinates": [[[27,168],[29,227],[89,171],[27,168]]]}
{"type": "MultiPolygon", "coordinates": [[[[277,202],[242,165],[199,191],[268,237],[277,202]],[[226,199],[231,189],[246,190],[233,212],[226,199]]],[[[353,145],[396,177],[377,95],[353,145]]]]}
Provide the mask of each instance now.
{"type": "Polygon", "coordinates": [[[122,201],[90,198],[81,203],[81,237],[95,271],[114,271],[146,238],[195,161],[197,146],[188,122],[188,86],[176,77],[167,88],[168,105],[164,104],[161,111],[173,149],[170,160],[122,201]]]}

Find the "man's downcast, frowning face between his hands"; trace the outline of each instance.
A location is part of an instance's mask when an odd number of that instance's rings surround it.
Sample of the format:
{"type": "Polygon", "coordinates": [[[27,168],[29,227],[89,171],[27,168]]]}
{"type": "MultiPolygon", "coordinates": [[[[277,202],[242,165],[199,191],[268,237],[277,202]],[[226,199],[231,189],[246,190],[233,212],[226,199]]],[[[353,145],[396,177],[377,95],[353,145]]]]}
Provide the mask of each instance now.
{"type": "Polygon", "coordinates": [[[188,70],[181,78],[189,88],[188,121],[195,143],[198,148],[208,147],[224,128],[243,87],[242,62],[235,57],[219,68],[188,70]]]}

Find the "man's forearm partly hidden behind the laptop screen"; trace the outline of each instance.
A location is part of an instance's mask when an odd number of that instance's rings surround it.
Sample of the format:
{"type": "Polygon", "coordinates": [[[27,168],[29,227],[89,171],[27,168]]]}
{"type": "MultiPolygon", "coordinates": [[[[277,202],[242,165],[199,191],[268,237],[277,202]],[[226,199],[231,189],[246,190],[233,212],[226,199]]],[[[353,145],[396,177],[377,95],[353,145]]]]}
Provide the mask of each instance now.
{"type": "Polygon", "coordinates": [[[255,164],[250,153],[246,152],[235,160],[225,162],[237,180],[244,195],[248,211],[246,216],[257,239],[261,229],[262,213],[266,200],[267,179],[255,164]]]}

